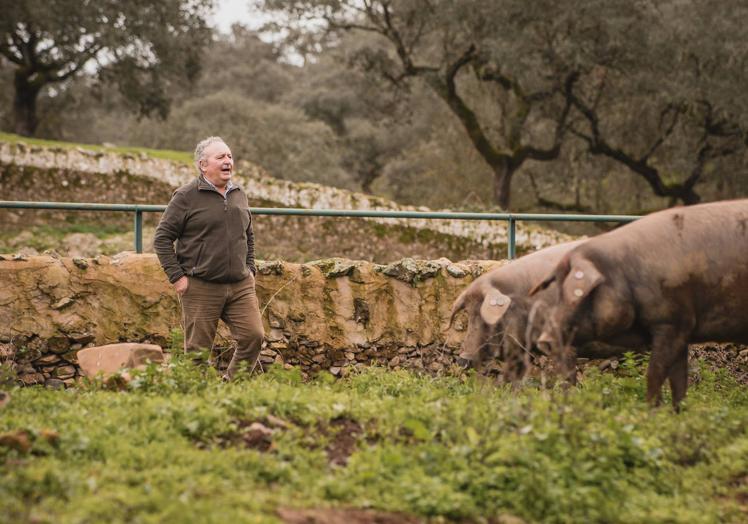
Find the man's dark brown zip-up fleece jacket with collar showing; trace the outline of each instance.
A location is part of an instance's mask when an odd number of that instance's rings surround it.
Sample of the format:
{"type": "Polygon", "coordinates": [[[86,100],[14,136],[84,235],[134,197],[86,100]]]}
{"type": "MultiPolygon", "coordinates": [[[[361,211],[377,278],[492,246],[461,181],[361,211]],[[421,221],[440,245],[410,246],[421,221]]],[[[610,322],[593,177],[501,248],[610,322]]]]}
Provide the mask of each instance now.
{"type": "Polygon", "coordinates": [[[172,284],[185,275],[238,282],[257,273],[247,196],[233,186],[224,198],[202,175],[174,191],[153,247],[172,284]]]}

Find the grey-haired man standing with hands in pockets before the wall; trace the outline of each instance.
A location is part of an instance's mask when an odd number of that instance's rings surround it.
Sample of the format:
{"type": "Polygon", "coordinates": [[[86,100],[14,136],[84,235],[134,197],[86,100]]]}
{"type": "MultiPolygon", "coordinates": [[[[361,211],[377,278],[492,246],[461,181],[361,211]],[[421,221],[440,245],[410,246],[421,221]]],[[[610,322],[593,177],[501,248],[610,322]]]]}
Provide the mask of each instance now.
{"type": "Polygon", "coordinates": [[[153,246],[182,304],[185,352],[212,349],[218,319],[228,325],[238,345],[224,375],[230,380],[241,362],[254,369],[264,337],[252,215],[231,182],[234,160],[221,138],[199,142],[195,164],[198,177],[172,195],[153,246]]]}

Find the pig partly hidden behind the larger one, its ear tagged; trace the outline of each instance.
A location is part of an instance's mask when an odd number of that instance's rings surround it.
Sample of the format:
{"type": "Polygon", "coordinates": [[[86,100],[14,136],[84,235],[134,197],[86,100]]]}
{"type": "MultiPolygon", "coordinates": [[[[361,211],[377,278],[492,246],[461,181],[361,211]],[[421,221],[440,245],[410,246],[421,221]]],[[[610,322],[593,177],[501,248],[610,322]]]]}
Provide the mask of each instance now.
{"type": "MultiPolygon", "coordinates": [[[[524,341],[531,307],[528,292],[550,272],[561,258],[583,241],[566,242],[525,255],[500,268],[481,275],[455,300],[449,321],[463,309],[468,327],[458,362],[478,367],[488,358],[501,355],[505,374],[509,367],[521,374],[527,355],[524,341]]],[[[541,293],[542,295],[542,293],[541,293]]]]}

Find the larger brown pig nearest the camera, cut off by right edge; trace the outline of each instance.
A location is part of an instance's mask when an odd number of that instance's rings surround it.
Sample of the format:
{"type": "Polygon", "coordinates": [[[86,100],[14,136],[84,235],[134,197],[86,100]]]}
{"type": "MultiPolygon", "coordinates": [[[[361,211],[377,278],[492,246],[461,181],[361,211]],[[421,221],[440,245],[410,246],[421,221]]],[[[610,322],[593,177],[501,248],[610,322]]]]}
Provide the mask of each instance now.
{"type": "Polygon", "coordinates": [[[667,378],[678,410],[689,344],[748,343],[748,200],[668,209],[596,236],[530,295],[547,291],[539,345],[560,355],[590,341],[643,343],[648,402],[661,404],[667,378]]]}

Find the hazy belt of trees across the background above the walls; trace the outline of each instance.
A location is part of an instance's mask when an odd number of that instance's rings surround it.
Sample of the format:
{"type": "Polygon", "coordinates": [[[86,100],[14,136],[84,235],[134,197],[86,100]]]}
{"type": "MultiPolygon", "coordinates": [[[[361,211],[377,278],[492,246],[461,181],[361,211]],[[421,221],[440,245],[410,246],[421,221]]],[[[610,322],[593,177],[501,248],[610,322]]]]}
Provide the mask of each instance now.
{"type": "Polygon", "coordinates": [[[129,69],[114,65],[132,40],[102,40],[39,88],[24,129],[20,72],[72,38],[55,23],[140,16],[60,20],[78,4],[5,6],[3,130],[180,150],[220,134],[274,176],[436,208],[640,213],[748,194],[743,0],[248,1],[275,23],[229,35],[205,25],[211,2],[170,0],[201,5],[184,34],[141,17],[151,45],[129,69]]]}

